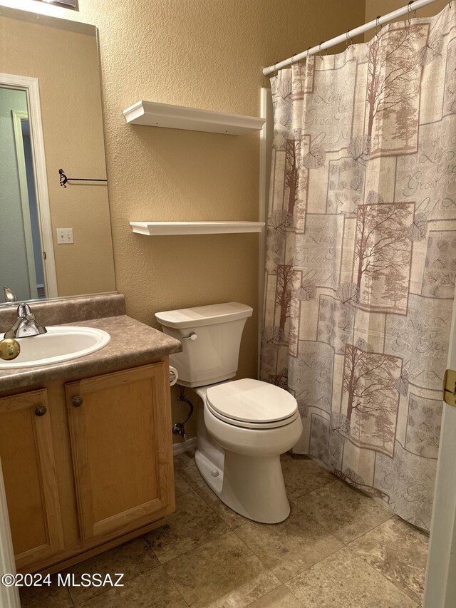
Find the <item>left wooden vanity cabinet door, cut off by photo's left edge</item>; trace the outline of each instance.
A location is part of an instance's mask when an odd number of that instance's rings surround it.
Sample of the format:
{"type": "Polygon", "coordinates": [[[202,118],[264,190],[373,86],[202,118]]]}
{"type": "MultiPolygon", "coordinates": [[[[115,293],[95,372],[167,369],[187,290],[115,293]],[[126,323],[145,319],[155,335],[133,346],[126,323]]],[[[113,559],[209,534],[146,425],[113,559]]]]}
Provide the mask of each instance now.
{"type": "Polygon", "coordinates": [[[0,458],[18,570],[63,547],[46,390],[0,398],[0,458]]]}

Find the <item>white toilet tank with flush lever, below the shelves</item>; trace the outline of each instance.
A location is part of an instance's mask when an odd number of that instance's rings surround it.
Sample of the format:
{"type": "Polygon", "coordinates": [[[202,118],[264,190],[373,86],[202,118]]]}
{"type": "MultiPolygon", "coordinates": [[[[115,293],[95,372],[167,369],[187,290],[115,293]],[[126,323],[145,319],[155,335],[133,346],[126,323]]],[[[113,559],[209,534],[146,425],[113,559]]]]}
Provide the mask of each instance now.
{"type": "Polygon", "coordinates": [[[165,334],[182,342],[182,353],[170,355],[178,383],[206,386],[232,378],[237,372],[242,330],[252,313],[250,306],[239,302],[155,313],[165,334]],[[196,339],[190,339],[190,334],[196,334],[196,339]]]}

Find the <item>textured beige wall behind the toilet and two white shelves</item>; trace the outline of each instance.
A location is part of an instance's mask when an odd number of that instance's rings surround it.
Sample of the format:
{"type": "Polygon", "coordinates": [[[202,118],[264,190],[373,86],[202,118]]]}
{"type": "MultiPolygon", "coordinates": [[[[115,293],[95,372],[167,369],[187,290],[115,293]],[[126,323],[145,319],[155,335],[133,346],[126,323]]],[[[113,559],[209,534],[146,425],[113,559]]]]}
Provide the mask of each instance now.
{"type": "MultiPolygon", "coordinates": [[[[257,220],[259,135],[125,124],[139,99],[259,114],[261,68],[363,23],[360,0],[79,0],[79,13],[22,0],[100,30],[117,289],[128,314],[232,300],[258,309],[258,235],[142,237],[129,220],[257,220]]],[[[257,315],[239,376],[257,373],[257,315]]],[[[174,417],[180,412],[175,409],[174,417]]],[[[189,427],[189,434],[192,428],[189,427]]]]}

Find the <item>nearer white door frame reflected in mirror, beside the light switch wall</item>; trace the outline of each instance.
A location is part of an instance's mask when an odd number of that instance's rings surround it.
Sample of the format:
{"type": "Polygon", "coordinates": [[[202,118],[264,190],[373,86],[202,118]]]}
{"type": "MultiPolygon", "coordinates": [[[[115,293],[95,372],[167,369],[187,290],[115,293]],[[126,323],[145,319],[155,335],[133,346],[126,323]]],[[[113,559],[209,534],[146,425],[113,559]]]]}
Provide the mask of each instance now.
{"type": "Polygon", "coordinates": [[[0,87],[14,88],[18,91],[26,92],[33,155],[33,177],[35,180],[36,202],[38,206],[38,224],[40,227],[41,247],[43,253],[46,253],[46,257],[43,255],[44,284],[46,286],[46,297],[56,298],[58,297],[56,259],[54,257],[53,247],[48,175],[46,171],[46,154],[44,151],[38,78],[0,73],[0,87]]]}

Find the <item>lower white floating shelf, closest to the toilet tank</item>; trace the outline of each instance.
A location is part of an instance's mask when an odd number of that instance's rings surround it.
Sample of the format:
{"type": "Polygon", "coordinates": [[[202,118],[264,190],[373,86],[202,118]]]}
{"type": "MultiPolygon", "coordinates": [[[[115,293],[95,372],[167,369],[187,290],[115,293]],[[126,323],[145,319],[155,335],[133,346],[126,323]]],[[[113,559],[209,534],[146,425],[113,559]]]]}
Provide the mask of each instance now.
{"type": "Polygon", "coordinates": [[[138,235],[227,235],[234,232],[261,232],[264,222],[130,222],[138,235]]]}

